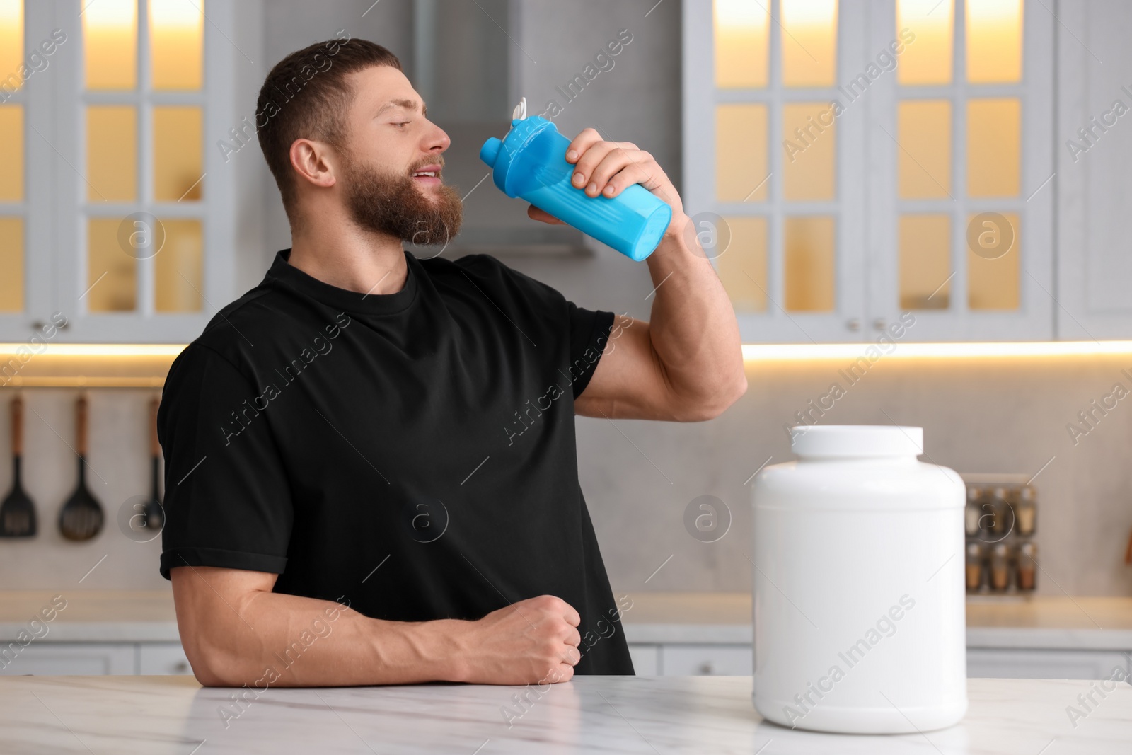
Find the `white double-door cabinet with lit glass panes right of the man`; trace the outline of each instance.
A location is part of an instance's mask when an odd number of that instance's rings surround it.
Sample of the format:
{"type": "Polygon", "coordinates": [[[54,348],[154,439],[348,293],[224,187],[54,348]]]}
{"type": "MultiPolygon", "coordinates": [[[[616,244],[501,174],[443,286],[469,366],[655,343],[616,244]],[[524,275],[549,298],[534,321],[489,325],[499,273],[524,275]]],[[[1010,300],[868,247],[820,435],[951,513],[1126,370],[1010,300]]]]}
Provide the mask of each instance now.
{"type": "Polygon", "coordinates": [[[904,312],[907,341],[1055,337],[1040,0],[830,3],[794,32],[781,2],[683,8],[685,207],[744,342],[869,342],[904,312]]]}

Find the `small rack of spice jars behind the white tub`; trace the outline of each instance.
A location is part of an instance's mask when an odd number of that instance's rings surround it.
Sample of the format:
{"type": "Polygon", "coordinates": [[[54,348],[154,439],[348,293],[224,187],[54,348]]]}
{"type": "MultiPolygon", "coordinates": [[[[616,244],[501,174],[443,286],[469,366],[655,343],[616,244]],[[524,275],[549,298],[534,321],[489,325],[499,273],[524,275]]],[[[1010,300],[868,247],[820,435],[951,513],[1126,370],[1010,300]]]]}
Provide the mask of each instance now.
{"type": "Polygon", "coordinates": [[[1021,474],[963,474],[967,592],[1028,594],[1037,587],[1038,491],[1021,474]]]}

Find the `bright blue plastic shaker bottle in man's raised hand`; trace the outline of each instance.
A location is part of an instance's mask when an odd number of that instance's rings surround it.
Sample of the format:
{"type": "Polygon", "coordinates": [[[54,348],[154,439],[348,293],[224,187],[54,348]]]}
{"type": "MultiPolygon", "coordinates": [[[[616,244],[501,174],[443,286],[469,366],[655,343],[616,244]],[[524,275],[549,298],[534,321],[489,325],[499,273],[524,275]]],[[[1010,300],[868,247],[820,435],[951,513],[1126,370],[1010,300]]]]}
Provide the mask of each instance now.
{"type": "Polygon", "coordinates": [[[539,115],[516,118],[504,139],[491,137],[480,160],[494,168],[495,185],[583,233],[641,261],[660,243],[672,208],[640,183],[616,197],[591,197],[571,183],[569,139],[539,115]]]}

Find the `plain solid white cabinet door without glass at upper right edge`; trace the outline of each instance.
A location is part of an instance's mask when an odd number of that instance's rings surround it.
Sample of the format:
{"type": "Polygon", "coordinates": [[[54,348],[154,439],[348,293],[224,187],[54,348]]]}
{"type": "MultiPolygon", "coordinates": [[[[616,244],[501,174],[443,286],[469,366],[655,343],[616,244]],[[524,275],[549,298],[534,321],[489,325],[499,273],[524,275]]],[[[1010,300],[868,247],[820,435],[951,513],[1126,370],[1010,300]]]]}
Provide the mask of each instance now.
{"type": "Polygon", "coordinates": [[[1062,0],[1057,17],[1057,335],[1132,338],[1132,3],[1062,0]]]}

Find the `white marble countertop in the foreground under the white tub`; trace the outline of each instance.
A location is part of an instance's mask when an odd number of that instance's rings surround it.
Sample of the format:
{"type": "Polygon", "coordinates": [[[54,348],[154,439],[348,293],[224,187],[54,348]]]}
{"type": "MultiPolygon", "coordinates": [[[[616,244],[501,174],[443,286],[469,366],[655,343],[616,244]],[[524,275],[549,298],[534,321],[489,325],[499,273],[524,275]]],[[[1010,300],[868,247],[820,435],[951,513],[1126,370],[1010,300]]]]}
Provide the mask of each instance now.
{"type": "MultiPolygon", "coordinates": [[[[248,692],[191,677],[0,677],[5,753],[1121,753],[1132,743],[1132,687],[1081,720],[1066,715],[1089,681],[970,679],[959,724],[868,737],[763,721],[751,677],[578,677],[517,687],[413,685],[248,692]],[[225,721],[221,711],[233,713],[225,721]],[[508,726],[503,710],[524,710],[508,726]],[[238,713],[238,715],[237,715],[238,713]]],[[[914,722],[915,723],[915,722],[914,722]]]]}

